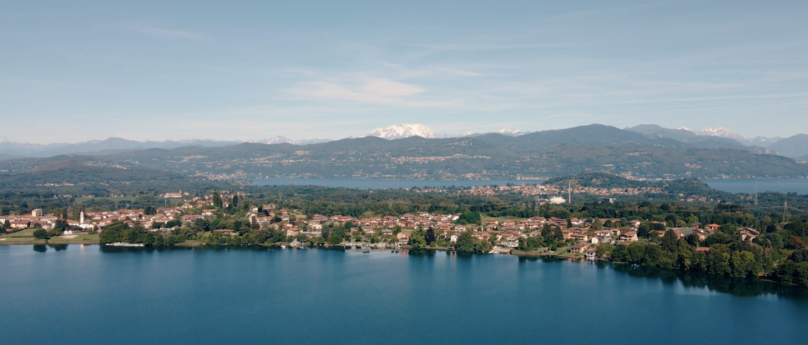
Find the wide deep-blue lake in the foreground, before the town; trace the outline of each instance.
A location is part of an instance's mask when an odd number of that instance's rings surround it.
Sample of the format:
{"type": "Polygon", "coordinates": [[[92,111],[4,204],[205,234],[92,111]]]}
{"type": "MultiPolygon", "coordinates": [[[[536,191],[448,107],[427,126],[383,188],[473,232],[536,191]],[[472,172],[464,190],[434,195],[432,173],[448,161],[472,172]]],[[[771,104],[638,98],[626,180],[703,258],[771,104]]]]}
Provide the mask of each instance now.
{"type": "Polygon", "coordinates": [[[0,246],[5,344],[804,344],[803,290],[515,256],[0,246]]]}

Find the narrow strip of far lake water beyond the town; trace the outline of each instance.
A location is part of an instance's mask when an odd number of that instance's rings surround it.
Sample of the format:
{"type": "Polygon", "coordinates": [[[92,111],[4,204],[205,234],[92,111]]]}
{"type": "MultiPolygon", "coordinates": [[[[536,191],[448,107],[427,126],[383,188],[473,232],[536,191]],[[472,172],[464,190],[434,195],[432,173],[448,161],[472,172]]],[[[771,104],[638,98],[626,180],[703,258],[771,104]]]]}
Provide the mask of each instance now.
{"type": "MultiPolygon", "coordinates": [[[[471,187],[471,186],[503,186],[512,184],[537,184],[543,180],[366,180],[366,179],[303,179],[303,178],[272,178],[253,179],[255,184],[261,186],[272,185],[313,185],[324,187],[343,187],[357,189],[398,189],[412,187],[471,187]]],[[[758,182],[758,191],[808,194],[808,179],[776,179],[776,180],[705,180],[710,187],[730,193],[754,193],[755,181],[758,182]]]]}

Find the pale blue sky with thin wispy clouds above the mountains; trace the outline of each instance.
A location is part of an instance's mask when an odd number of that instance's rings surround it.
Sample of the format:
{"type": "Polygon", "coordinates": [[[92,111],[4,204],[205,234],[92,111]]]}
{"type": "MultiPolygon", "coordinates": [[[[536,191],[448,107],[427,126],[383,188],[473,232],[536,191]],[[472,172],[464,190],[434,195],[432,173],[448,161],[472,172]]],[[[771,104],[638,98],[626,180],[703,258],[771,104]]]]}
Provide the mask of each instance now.
{"type": "Polygon", "coordinates": [[[10,1],[0,141],[808,133],[808,1],[10,1]]]}

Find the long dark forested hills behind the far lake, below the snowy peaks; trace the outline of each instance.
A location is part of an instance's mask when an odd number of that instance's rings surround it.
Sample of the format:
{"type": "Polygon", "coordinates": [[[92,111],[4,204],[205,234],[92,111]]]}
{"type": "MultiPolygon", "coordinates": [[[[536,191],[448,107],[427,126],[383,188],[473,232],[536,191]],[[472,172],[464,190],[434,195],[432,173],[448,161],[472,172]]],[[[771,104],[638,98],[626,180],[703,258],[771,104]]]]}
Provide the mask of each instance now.
{"type": "Polygon", "coordinates": [[[518,137],[365,137],[311,145],[245,143],[12,159],[0,162],[0,174],[28,172],[66,159],[215,178],[530,179],[591,172],[665,179],[808,176],[808,165],[790,158],[601,125],[518,137]]]}

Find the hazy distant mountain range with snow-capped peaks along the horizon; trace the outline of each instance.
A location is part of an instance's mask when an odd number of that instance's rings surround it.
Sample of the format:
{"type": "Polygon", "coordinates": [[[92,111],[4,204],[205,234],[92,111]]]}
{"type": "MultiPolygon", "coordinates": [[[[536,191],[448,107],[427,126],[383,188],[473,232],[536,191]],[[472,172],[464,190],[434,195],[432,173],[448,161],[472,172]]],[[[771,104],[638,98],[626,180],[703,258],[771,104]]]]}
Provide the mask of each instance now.
{"type": "MultiPolygon", "coordinates": [[[[610,126],[581,126],[566,130],[549,130],[524,133],[514,129],[502,129],[496,133],[440,134],[421,124],[401,124],[377,128],[370,137],[388,140],[423,138],[430,140],[477,138],[516,154],[538,154],[557,144],[584,144],[593,146],[625,145],[627,142],[677,149],[733,149],[756,154],[783,155],[799,161],[808,159],[808,135],[798,134],[789,138],[747,138],[725,128],[704,128],[694,131],[688,128],[664,128],[657,125],[639,125],[624,130],[610,126]],[[587,128],[586,133],[582,129],[587,128]],[[615,133],[615,130],[618,133],[615,133]],[[621,140],[605,140],[616,135],[621,140]],[[582,136],[595,136],[594,142],[582,136]],[[540,139],[543,138],[543,139],[540,139]],[[552,138],[552,139],[548,139],[552,138]],[[519,140],[512,140],[519,139],[519,140]],[[536,143],[535,140],[541,142],[536,143]]],[[[343,139],[344,140],[356,139],[343,139]]],[[[267,145],[293,145],[296,150],[308,151],[312,145],[334,143],[330,139],[292,140],[277,136],[247,143],[267,145]]],[[[174,150],[186,147],[220,148],[243,144],[241,141],[179,140],[179,141],[134,141],[122,138],[88,141],[75,144],[21,144],[0,142],[0,162],[21,157],[52,157],[60,155],[115,155],[130,151],[149,149],[174,150]]],[[[437,143],[437,142],[436,142],[437,143]]],[[[336,144],[335,144],[336,145],[336,144]]],[[[304,172],[300,172],[304,173],[304,172]]],[[[360,174],[361,175],[361,174],[360,174]]]]}

